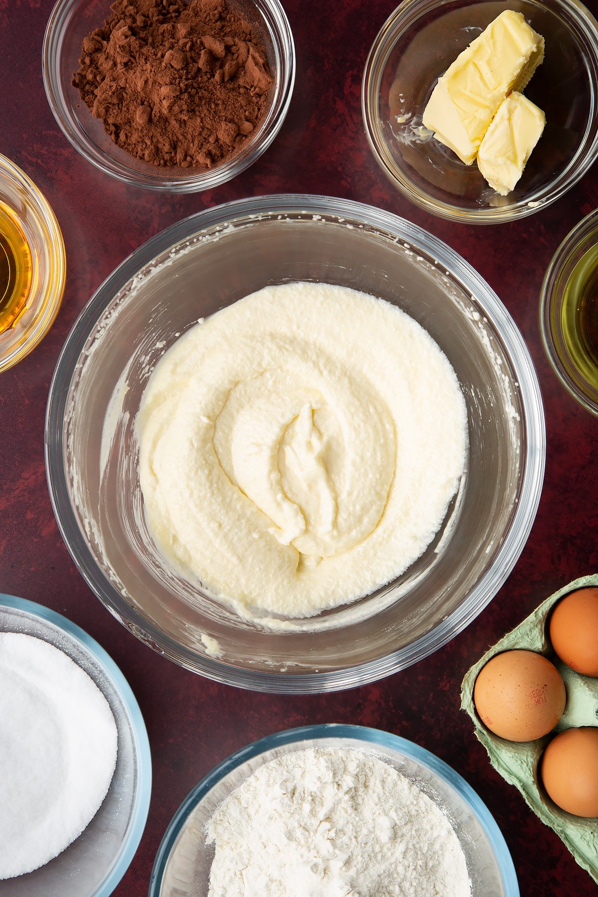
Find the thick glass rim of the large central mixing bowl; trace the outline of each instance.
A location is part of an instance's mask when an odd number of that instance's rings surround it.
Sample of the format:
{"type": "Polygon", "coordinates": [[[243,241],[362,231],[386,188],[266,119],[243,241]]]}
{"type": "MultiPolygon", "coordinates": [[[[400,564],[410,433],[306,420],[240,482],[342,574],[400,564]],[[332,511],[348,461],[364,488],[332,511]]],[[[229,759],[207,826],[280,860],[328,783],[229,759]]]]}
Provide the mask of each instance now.
{"type": "Polygon", "coordinates": [[[515,321],[481,274],[478,274],[454,249],[418,225],[374,206],[331,196],[277,194],[234,200],[190,215],[147,240],[108,275],[82,309],[74,327],[66,337],[48,393],[45,458],[50,500],[66,547],[92,592],[137,638],[180,666],[223,684],[262,692],[290,694],[330,692],[374,682],[428,657],[463,631],[496,595],[524,549],[540,501],[545,455],[546,428],[542,394],[533,361],[515,321]],[[438,261],[438,265],[444,265],[447,270],[451,270],[453,276],[463,284],[466,292],[474,292],[476,299],[488,312],[516,368],[525,413],[527,438],[521,492],[513,521],[498,548],[493,564],[472,588],[464,602],[420,639],[381,658],[334,672],[285,675],[247,670],[230,666],[218,658],[196,654],[170,640],[169,636],[137,614],[101,574],[82,536],[68,496],[63,464],[66,398],[80,353],[103,309],[138,270],[174,244],[189,239],[207,228],[242,220],[244,216],[254,219],[260,213],[262,216],[267,213],[274,218],[282,213],[303,213],[309,219],[312,219],[314,214],[331,215],[345,220],[357,219],[365,226],[383,231],[394,238],[407,239],[412,247],[420,247],[424,254],[431,254],[438,261]]]}

